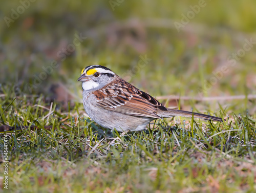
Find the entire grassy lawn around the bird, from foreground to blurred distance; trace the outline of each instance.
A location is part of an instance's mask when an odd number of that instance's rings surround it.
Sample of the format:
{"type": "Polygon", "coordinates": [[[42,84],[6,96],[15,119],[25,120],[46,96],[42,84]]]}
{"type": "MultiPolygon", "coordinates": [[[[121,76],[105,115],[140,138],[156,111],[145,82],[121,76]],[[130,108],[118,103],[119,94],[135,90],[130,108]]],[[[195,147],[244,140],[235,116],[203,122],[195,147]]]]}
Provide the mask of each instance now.
{"type": "MultiPolygon", "coordinates": [[[[256,47],[232,54],[255,41],[256,4],[205,2],[179,32],[174,22],[198,0],[131,0],[115,10],[109,1],[45,0],[9,27],[1,19],[0,192],[254,192],[256,47]],[[59,57],[75,34],[87,38],[59,57]],[[29,90],[53,61],[59,66],[29,90]],[[76,81],[92,63],[166,106],[227,120],[168,118],[123,136],[106,130],[87,117],[76,81]],[[226,99],[202,100],[216,96],[226,99]]],[[[2,0],[1,18],[20,5],[2,0]]]]}

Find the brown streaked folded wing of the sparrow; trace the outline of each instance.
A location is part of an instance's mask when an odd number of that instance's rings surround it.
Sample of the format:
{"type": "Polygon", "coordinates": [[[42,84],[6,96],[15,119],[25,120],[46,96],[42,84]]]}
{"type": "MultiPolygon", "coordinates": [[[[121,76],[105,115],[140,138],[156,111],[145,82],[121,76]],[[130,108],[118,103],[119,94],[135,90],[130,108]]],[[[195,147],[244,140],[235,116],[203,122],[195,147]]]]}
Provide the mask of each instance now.
{"type": "Polygon", "coordinates": [[[94,91],[93,94],[98,99],[97,104],[102,108],[126,115],[160,118],[156,114],[157,109],[167,111],[154,97],[140,91],[121,78],[94,91]]]}

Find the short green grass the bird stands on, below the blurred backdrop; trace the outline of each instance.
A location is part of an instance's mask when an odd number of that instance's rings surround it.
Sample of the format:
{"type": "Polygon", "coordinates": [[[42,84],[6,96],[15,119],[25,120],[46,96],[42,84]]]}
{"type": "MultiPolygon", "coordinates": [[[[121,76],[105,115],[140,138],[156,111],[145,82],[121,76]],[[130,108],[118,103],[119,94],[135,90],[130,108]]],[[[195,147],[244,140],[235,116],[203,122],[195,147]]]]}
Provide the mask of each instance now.
{"type": "Polygon", "coordinates": [[[8,136],[8,191],[255,189],[256,123],[248,114],[223,123],[157,120],[146,131],[122,136],[85,117],[80,103],[66,111],[42,95],[17,96],[3,85],[1,93],[1,121],[11,126],[0,133],[1,149],[8,136]]]}

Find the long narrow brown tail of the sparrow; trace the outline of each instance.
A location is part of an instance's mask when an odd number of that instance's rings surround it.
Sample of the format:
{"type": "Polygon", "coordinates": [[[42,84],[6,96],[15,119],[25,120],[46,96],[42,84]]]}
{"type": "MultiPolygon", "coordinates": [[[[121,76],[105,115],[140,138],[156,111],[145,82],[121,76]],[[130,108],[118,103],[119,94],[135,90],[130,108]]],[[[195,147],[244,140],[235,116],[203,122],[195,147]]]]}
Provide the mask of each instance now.
{"type": "Polygon", "coordinates": [[[167,110],[168,111],[162,111],[161,112],[161,116],[162,117],[181,116],[181,117],[189,117],[189,118],[191,118],[193,116],[193,114],[194,114],[194,118],[222,122],[222,118],[211,116],[211,115],[205,115],[205,114],[201,114],[201,113],[194,113],[194,112],[182,111],[182,110],[176,110],[176,109],[169,109],[169,108],[167,108],[167,110]]]}

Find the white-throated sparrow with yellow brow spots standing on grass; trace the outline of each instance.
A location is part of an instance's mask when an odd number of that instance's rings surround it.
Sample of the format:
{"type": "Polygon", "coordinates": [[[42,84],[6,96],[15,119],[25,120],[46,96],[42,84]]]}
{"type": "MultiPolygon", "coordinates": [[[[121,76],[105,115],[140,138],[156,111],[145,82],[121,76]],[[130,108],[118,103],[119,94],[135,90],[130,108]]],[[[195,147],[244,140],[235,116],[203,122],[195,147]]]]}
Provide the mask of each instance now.
{"type": "Polygon", "coordinates": [[[81,71],[82,101],[87,115],[97,124],[118,132],[146,130],[147,125],[165,117],[193,117],[220,121],[222,118],[166,108],[151,95],[137,89],[109,68],[91,65],[81,71]]]}

